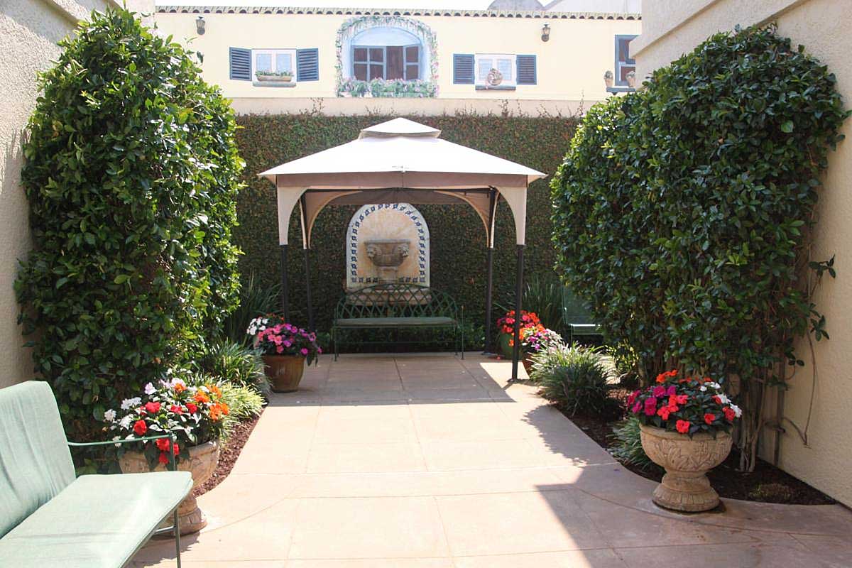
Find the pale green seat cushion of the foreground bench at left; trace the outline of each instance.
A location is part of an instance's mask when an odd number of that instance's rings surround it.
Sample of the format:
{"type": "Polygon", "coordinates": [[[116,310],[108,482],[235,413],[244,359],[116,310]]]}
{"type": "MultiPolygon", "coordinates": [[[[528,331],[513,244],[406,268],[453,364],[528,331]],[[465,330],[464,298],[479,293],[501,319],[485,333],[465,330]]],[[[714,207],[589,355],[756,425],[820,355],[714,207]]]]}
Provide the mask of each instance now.
{"type": "Polygon", "coordinates": [[[188,472],[83,475],[0,538],[0,566],[118,568],[192,486],[188,472]]]}

